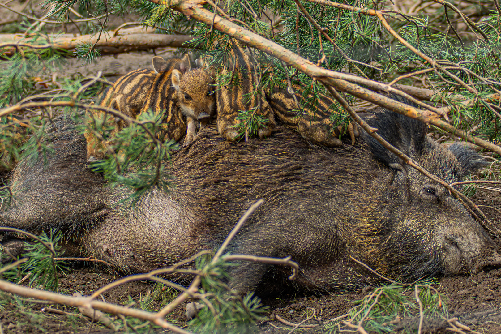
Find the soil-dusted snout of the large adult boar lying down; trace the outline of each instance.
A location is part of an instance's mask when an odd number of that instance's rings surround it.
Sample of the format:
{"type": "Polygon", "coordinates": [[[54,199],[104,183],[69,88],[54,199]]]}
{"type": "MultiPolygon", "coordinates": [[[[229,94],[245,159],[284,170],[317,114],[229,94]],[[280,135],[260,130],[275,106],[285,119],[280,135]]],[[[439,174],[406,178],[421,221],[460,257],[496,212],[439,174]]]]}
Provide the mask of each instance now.
{"type": "Polygon", "coordinates": [[[478,225],[449,228],[443,235],[443,245],[443,264],[448,274],[476,274],[485,263],[499,257],[494,242],[478,225]]]}

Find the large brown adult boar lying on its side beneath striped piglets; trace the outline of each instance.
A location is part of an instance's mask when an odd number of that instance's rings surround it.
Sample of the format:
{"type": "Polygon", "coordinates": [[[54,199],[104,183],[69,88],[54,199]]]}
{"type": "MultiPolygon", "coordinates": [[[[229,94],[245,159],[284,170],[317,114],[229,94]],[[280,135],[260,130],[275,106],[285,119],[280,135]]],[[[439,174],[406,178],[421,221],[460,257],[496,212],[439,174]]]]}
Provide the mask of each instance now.
{"type": "MultiPolygon", "coordinates": [[[[481,168],[461,145],[444,149],[426,126],[382,110],[368,118],[378,133],[448,183],[481,168]]],[[[118,190],[86,168],[85,140],[69,120],[48,134],[55,154],[44,165],[25,156],[11,177],[15,200],[0,224],[62,230],[92,255],[130,272],[172,264],[220,245],[259,198],[263,204],[231,243],[233,253],[300,264],[299,289],[355,289],[373,282],[350,255],[404,280],[475,270],[492,240],[466,209],[363,134],[355,145],[315,146],[280,128],[267,140],[229,143],[200,131],[173,154],[169,193],[154,190],[138,209],[117,204],[118,190]],[[45,166],[45,167],[44,167],[45,166]]],[[[245,262],[232,269],[241,292],[291,284],[290,269],[245,262]]]]}

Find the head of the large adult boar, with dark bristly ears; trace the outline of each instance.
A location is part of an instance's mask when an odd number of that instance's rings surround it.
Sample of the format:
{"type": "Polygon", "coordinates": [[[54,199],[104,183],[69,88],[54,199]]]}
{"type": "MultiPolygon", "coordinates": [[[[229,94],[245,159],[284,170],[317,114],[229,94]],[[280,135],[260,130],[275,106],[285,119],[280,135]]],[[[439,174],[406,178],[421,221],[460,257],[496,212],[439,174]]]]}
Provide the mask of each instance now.
{"type": "MultiPolygon", "coordinates": [[[[426,125],[388,111],[369,122],[378,133],[431,174],[450,184],[486,165],[462,144],[449,149],[426,136],[426,125]]],[[[476,272],[484,255],[498,257],[493,241],[465,206],[440,183],[405,164],[364,134],[374,157],[393,170],[386,190],[388,238],[381,249],[395,277],[476,272]]],[[[461,186],[454,186],[460,190],[461,186]]]]}

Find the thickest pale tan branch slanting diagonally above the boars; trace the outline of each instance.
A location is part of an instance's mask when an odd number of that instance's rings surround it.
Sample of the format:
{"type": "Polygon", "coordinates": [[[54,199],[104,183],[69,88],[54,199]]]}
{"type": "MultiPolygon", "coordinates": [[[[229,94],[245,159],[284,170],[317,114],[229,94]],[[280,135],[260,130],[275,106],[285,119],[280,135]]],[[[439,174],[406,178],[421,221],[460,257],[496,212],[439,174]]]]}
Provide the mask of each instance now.
{"type": "MultiPolygon", "coordinates": [[[[168,0],[148,0],[155,4],[162,4],[165,6],[170,5],[170,1],[168,0]]],[[[390,87],[386,84],[378,83],[376,81],[367,80],[364,78],[360,78],[357,76],[343,74],[335,71],[326,70],[320,67],[317,67],[312,62],[296,55],[292,51],[270,41],[266,38],[249,32],[248,30],[243,29],[242,27],[235,25],[234,23],[221,18],[218,15],[214,15],[214,13],[209,12],[208,10],[203,8],[203,4],[205,4],[204,0],[184,0],[180,3],[177,3],[176,6],[172,7],[174,10],[186,15],[188,18],[195,19],[199,22],[205,23],[208,26],[212,26],[214,29],[231,36],[248,46],[256,48],[262,52],[267,53],[281,61],[291,65],[295,69],[300,70],[301,72],[306,73],[307,75],[316,78],[324,84],[332,86],[342,92],[348,93],[355,97],[358,97],[362,100],[374,103],[378,106],[390,109],[396,113],[415,118],[420,120],[425,124],[432,124],[442,130],[445,130],[449,133],[454,134],[455,136],[460,137],[461,139],[466,139],[467,141],[483,147],[487,150],[496,152],[501,155],[501,147],[494,145],[485,140],[475,138],[471,135],[468,135],[466,132],[461,131],[453,127],[452,125],[440,120],[438,114],[423,111],[406,104],[400,103],[393,99],[390,99],[386,96],[377,94],[373,91],[370,91],[364,87],[359,85],[365,85],[371,89],[390,93],[394,92],[399,95],[405,94],[402,91],[396,90],[393,87],[390,87]]],[[[377,14],[377,13],[376,13],[377,14]]]]}

